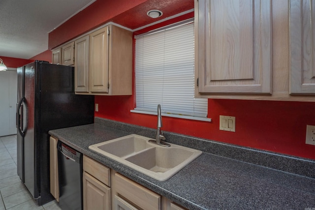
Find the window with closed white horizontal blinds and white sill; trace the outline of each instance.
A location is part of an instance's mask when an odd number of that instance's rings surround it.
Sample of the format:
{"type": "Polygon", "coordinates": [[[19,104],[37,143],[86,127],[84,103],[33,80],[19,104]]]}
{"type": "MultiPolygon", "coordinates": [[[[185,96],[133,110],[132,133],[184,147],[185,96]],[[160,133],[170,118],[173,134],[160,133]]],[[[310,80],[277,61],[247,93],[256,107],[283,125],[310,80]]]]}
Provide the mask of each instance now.
{"type": "Polygon", "coordinates": [[[136,108],[131,112],[206,120],[208,100],[194,97],[193,23],[135,37],[136,108]]]}

